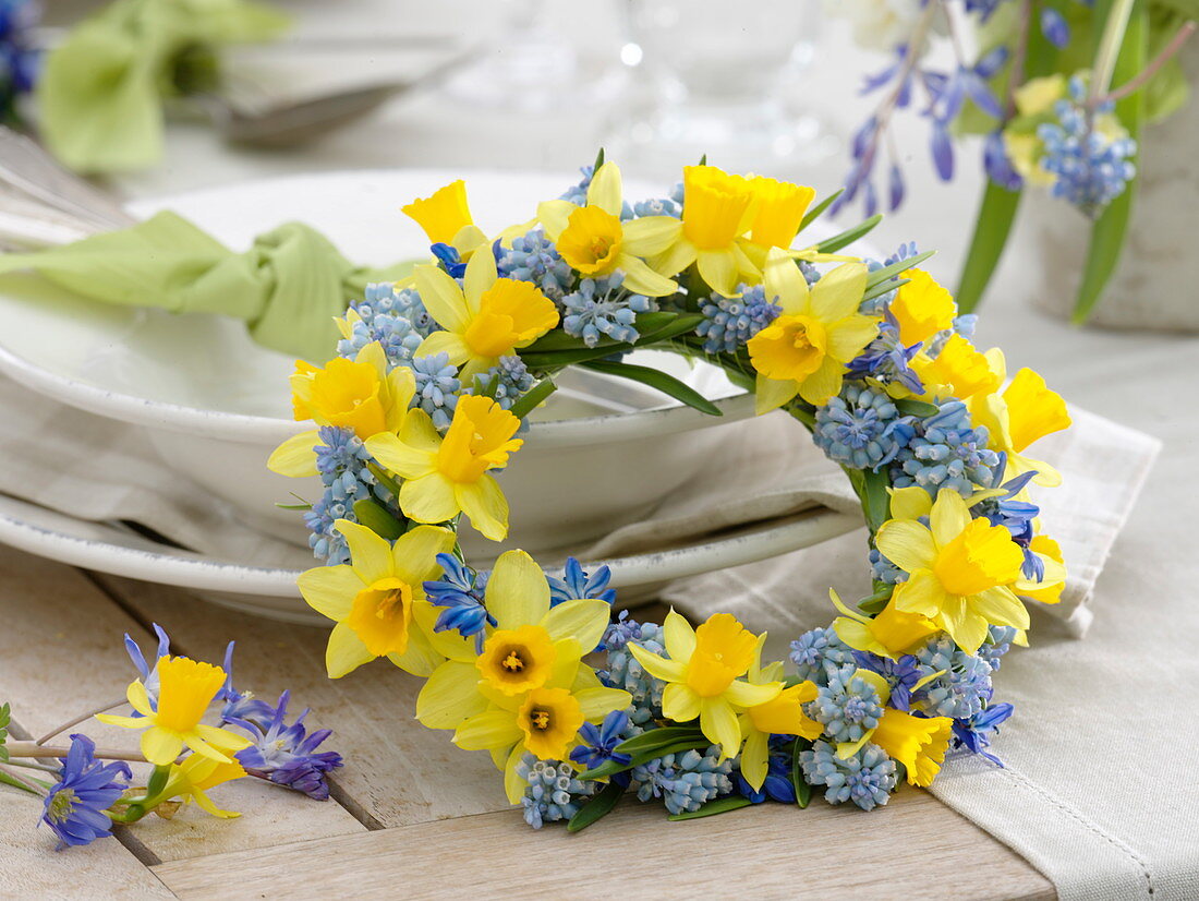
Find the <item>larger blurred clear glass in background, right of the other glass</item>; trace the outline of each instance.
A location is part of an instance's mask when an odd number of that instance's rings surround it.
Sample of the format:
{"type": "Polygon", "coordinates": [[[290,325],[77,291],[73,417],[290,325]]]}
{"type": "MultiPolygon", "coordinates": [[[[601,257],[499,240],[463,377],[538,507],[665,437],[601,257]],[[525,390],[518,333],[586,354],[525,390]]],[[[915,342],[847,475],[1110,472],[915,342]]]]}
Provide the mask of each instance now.
{"type": "Polygon", "coordinates": [[[644,76],[614,124],[622,160],[650,173],[707,154],[729,169],[785,173],[836,151],[801,90],[819,37],[815,0],[626,2],[621,61],[644,76]]]}

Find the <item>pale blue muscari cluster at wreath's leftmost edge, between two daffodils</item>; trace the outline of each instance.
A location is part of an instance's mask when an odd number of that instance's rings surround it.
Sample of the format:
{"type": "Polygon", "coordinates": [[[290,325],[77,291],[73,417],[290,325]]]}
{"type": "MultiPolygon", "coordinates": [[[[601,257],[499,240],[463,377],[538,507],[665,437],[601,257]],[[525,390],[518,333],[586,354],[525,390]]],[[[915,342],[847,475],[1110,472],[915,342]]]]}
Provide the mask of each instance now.
{"type": "Polygon", "coordinates": [[[370,455],[354,430],[323,426],[318,434],[321,443],[317,445],[317,471],[325,492],[303,519],[313,554],[336,566],[350,561],[350,549],[333,524],[338,519],[357,522],[354,504],[359,500],[375,497],[396,509],[394,498],[387,495],[367,469],[370,455]]]}

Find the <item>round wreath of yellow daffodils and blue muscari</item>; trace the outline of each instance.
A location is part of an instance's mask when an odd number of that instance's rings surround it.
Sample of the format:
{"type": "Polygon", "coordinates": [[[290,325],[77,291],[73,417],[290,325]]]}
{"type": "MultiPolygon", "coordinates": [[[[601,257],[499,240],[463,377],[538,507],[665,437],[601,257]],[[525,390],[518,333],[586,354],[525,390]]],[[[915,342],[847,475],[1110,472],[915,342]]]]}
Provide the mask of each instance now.
{"type": "Polygon", "coordinates": [[[490,752],[534,827],[582,829],[626,793],[671,818],[802,807],[813,788],[870,810],[904,779],[930,785],[951,750],[999,764],[987,749],[1012,705],[992,673],[1026,643],[1024,601],[1065,585],[1028,497],[1060,476],[1024,456],[1070,425],[1061,397],[971,344],[974,317],[915,268],[930,254],[838,253],[879,217],[793,250],[836,196],[809,210],[811,187],[701,162],[629,204],[602,152],[583,173],[494,240],[462,181],[412,202],[432,259],[353,304],[324,367],[297,362],[295,416],[318,428],[269,465],[325,485],[301,509],[326,565],[299,585],[336,624],[330,677],[387,657],[423,679],[420,722],[490,752]],[[728,613],[614,615],[605,566],[568,559],[558,578],[523,551],[489,572],[463,558],[464,518],[506,537],[493,471],[565,367],[719,414],[621,360],[647,347],[715,364],[759,414],[802,422],[861,498],[873,594],[850,607],[830,591],[840,615],[791,643],[791,667],[728,613]]]}

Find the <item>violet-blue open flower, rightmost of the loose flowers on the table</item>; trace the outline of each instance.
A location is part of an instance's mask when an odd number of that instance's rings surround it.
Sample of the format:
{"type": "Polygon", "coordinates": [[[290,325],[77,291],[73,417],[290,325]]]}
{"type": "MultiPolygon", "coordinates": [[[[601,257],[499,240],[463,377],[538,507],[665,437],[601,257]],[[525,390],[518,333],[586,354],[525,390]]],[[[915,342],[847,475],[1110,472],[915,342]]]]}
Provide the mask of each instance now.
{"type": "Polygon", "coordinates": [[[308,733],[303,725],[308,708],[305,708],[295,722],[287,725],[289,697],[289,692],[284,691],[279,696],[278,707],[269,708],[272,714],[270,720],[260,716],[233,720],[235,726],[249,733],[254,743],[237,751],[237,762],[252,776],[267,779],[323,801],[329,798],[329,782],[325,777],[342,765],[342,755],[337,751],[317,750],[332,734],[332,729],[308,733]]]}

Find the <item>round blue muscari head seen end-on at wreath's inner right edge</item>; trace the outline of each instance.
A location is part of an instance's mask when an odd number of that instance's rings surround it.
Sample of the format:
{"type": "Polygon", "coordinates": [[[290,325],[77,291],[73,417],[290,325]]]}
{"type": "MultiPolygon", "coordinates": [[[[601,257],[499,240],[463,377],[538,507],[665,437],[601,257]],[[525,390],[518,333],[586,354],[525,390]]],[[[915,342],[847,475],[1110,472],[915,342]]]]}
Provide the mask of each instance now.
{"type": "Polygon", "coordinates": [[[812,440],[833,462],[876,473],[915,437],[911,422],[885,391],[846,382],[839,396],[817,408],[812,440]]]}

